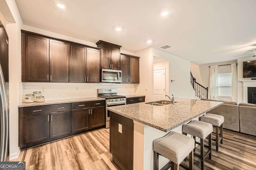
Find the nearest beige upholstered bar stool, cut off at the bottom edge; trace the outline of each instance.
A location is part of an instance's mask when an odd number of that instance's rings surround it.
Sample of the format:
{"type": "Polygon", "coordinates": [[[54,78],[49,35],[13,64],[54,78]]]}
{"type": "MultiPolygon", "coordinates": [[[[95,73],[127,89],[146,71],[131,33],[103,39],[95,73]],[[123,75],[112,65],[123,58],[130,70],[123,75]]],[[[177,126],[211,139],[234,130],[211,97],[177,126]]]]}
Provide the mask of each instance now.
{"type": "Polygon", "coordinates": [[[171,131],[164,137],[154,140],[154,170],[159,169],[159,154],[170,160],[170,162],[168,162],[168,164],[166,164],[161,170],[168,170],[170,167],[174,170],[178,170],[179,165],[188,169],[180,164],[188,155],[189,169],[192,170],[194,163],[194,145],[195,142],[192,138],[174,131],[171,131]]]}

